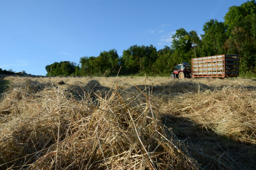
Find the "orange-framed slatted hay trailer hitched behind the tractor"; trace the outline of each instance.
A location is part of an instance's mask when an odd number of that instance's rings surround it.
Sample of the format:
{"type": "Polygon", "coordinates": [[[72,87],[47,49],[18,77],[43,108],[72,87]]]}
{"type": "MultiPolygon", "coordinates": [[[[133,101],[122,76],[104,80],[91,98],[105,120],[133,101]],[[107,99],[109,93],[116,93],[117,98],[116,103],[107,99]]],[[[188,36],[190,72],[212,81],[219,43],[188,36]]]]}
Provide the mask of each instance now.
{"type": "Polygon", "coordinates": [[[237,77],[239,76],[238,55],[214,55],[191,59],[192,77],[237,77]]]}

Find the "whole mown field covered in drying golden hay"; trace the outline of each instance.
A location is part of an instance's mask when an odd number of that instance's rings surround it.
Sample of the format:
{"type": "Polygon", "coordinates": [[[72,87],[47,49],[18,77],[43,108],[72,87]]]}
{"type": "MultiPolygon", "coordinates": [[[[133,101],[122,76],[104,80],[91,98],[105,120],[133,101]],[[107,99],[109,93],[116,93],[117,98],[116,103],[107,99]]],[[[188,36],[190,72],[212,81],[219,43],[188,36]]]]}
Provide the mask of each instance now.
{"type": "Polygon", "coordinates": [[[256,81],[6,76],[0,169],[256,169],[256,81]]]}

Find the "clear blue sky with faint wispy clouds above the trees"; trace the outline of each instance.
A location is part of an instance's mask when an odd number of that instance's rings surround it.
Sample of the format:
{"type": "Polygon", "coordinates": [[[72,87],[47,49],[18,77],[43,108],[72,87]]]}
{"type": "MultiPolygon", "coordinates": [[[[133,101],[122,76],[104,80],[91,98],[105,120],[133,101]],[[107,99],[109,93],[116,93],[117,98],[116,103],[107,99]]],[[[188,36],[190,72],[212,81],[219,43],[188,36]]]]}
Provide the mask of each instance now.
{"type": "Polygon", "coordinates": [[[184,28],[204,34],[246,0],[0,0],[0,68],[46,75],[45,66],[131,45],[171,44],[184,28]]]}

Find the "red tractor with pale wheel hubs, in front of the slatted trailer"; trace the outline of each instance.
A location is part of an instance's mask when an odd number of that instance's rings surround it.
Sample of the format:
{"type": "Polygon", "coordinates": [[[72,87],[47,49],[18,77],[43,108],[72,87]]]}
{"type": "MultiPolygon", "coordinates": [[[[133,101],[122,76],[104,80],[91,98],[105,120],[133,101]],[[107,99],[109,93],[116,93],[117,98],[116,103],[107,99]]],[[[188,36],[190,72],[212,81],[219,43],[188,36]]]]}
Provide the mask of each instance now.
{"type": "Polygon", "coordinates": [[[175,66],[171,73],[171,78],[191,78],[192,69],[191,65],[187,62],[182,62],[175,66]]]}

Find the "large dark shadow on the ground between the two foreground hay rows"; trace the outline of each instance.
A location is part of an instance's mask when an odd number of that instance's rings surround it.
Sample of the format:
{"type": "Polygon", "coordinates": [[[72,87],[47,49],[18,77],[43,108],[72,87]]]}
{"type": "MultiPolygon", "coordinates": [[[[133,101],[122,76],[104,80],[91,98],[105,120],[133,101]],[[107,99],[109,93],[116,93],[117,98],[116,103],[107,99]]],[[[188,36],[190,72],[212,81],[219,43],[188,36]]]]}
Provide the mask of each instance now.
{"type": "Polygon", "coordinates": [[[187,146],[202,169],[256,169],[256,145],[218,135],[178,116],[163,115],[162,122],[187,146]]]}

